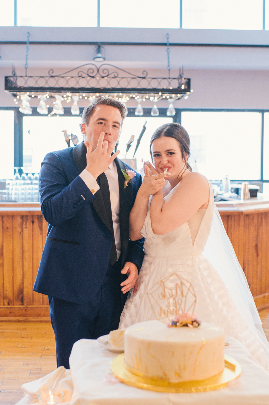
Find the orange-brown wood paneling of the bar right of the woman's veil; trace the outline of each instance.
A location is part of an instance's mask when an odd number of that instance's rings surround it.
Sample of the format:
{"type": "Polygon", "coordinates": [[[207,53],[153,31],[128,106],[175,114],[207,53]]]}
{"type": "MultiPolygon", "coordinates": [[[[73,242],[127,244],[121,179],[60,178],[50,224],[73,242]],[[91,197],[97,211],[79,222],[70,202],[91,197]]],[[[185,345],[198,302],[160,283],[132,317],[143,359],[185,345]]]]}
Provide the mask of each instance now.
{"type": "Polygon", "coordinates": [[[269,211],[220,211],[258,309],[269,307],[269,211]]]}

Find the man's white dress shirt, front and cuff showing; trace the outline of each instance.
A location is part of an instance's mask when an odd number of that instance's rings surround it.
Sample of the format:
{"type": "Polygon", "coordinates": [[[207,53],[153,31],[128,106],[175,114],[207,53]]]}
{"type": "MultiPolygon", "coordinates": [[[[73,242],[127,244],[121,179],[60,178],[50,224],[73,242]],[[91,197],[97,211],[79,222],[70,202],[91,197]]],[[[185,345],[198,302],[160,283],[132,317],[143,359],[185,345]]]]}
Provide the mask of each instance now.
{"type": "MultiPolygon", "coordinates": [[[[111,213],[112,213],[112,220],[113,220],[113,231],[115,237],[115,244],[117,249],[117,256],[120,257],[120,189],[119,189],[119,181],[118,181],[118,171],[115,162],[112,162],[107,170],[105,171],[105,175],[107,177],[107,182],[109,185],[109,194],[110,194],[110,203],[111,203],[111,213]]],[[[92,194],[95,194],[99,190],[99,184],[95,180],[95,178],[88,172],[88,170],[84,169],[83,172],[80,173],[80,177],[86,184],[86,186],[90,189],[92,194]]]]}

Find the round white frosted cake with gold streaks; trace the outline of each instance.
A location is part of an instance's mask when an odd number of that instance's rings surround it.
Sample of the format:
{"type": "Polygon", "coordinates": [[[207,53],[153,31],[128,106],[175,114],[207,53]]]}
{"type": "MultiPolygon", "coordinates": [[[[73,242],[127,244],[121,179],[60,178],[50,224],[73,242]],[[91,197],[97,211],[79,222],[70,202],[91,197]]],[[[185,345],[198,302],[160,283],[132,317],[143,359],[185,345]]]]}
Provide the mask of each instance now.
{"type": "Polygon", "coordinates": [[[223,329],[205,322],[197,328],[141,322],[125,329],[125,367],[168,382],[207,379],[224,369],[224,338],[223,329]]]}

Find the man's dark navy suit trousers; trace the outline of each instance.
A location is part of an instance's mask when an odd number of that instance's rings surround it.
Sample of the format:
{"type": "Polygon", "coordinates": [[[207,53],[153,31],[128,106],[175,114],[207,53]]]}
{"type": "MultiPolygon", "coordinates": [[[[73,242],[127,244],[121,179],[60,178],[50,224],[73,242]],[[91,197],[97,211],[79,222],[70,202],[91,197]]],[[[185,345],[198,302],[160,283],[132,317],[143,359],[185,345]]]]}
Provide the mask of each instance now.
{"type": "Polygon", "coordinates": [[[57,367],[69,369],[69,356],[76,341],[97,339],[118,329],[122,313],[120,270],[118,262],[113,266],[109,264],[99,291],[88,303],[76,304],[48,297],[56,340],[57,367]]]}

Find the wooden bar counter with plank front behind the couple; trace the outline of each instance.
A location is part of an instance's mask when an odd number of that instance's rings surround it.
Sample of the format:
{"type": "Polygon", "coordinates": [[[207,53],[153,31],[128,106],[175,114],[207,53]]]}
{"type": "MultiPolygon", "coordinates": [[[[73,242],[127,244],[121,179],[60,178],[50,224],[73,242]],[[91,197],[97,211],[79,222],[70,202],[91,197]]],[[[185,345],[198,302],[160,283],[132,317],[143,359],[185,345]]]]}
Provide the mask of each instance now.
{"type": "MultiPolygon", "coordinates": [[[[269,307],[269,197],[216,204],[258,309],[269,307]]],[[[0,320],[49,320],[33,292],[47,223],[39,203],[0,203],[0,320]]]]}

